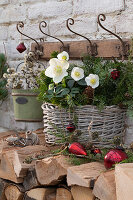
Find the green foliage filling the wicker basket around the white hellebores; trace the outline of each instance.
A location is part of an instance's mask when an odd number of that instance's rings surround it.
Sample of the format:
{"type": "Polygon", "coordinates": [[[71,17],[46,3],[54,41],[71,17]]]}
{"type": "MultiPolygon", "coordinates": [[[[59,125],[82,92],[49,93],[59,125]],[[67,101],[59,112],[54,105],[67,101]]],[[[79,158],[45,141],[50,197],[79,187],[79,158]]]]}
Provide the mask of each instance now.
{"type": "MultiPolygon", "coordinates": [[[[68,76],[58,84],[46,77],[45,71],[43,71],[38,78],[39,99],[65,108],[88,104],[84,94],[87,88],[85,78],[77,82],[74,81],[71,77],[71,71],[74,67],[77,65],[70,65],[67,70],[68,76]],[[51,84],[52,87],[50,87],[51,84]]],[[[99,86],[95,88],[92,105],[96,105],[100,110],[104,106],[120,105],[128,107],[131,113],[133,107],[133,62],[131,60],[128,62],[104,61],[102,58],[85,56],[83,64],[78,67],[84,70],[85,77],[89,74],[99,76],[99,86]],[[111,76],[113,70],[120,73],[120,76],[115,80],[111,76]]]]}

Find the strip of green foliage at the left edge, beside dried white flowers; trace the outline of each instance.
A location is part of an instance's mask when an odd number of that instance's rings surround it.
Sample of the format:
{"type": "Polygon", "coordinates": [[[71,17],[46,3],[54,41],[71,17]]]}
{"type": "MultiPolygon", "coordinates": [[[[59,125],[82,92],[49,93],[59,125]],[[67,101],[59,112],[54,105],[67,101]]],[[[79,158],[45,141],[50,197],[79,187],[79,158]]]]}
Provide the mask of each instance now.
{"type": "Polygon", "coordinates": [[[3,78],[3,74],[7,73],[6,57],[4,54],[0,54],[0,100],[4,100],[8,94],[6,89],[7,81],[3,78]]]}

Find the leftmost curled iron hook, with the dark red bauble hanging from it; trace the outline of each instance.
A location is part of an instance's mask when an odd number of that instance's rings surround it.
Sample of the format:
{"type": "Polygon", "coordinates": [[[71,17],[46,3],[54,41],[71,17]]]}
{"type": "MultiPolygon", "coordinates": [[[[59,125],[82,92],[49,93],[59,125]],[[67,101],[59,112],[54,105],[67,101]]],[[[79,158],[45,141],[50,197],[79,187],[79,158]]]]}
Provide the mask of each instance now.
{"type": "Polygon", "coordinates": [[[16,28],[17,28],[17,31],[18,31],[21,35],[23,35],[23,36],[25,36],[25,37],[27,37],[27,38],[33,40],[33,41],[36,43],[36,46],[35,46],[35,49],[34,49],[35,52],[38,50],[38,51],[40,51],[41,53],[43,53],[43,46],[42,46],[39,42],[37,42],[37,40],[35,40],[34,38],[32,38],[32,37],[30,37],[30,36],[24,34],[22,31],[20,31],[20,28],[24,28],[24,23],[23,23],[22,21],[17,23],[16,28]]]}

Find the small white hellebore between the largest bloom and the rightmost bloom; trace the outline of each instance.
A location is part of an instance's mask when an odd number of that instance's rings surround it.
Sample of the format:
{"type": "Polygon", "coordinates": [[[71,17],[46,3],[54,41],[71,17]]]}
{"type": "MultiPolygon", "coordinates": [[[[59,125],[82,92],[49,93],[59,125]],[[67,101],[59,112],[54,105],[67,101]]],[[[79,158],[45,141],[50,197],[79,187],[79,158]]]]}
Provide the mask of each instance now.
{"type": "Polygon", "coordinates": [[[84,70],[80,67],[74,67],[71,72],[71,77],[75,81],[79,81],[80,79],[84,77],[84,70]]]}

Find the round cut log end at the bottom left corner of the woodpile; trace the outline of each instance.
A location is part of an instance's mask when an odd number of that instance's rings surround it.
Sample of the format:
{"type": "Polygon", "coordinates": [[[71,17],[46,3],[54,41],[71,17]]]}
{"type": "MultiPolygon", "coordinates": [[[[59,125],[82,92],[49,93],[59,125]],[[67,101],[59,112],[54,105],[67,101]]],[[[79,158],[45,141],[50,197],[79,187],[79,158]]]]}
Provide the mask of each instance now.
{"type": "Polygon", "coordinates": [[[24,189],[22,186],[10,184],[5,188],[7,200],[23,200],[24,189]]]}

